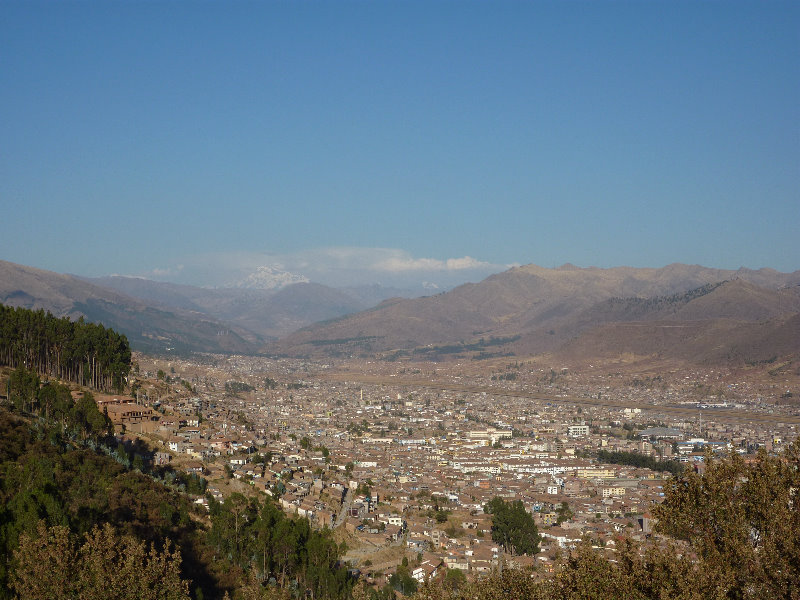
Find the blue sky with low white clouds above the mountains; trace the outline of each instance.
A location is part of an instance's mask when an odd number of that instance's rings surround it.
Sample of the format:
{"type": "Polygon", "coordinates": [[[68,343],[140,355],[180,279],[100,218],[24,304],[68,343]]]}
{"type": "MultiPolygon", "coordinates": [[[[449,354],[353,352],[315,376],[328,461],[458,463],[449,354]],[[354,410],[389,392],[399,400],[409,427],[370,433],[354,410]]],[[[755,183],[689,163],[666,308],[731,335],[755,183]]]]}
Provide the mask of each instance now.
{"type": "Polygon", "coordinates": [[[0,209],[84,275],[793,271],[800,3],[3,0],[0,209]]]}

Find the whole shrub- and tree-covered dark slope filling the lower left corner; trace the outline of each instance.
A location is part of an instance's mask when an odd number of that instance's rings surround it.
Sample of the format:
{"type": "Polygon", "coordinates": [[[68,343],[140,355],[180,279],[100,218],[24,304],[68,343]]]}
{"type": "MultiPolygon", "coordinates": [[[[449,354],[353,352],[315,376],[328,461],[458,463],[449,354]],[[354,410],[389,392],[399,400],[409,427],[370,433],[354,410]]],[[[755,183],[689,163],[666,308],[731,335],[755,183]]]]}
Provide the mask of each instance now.
{"type": "Polygon", "coordinates": [[[204,480],[131,458],[107,431],[74,435],[58,408],[37,415],[0,407],[0,600],[350,597],[329,530],[267,497],[209,497],[206,512],[180,491],[204,480]]]}

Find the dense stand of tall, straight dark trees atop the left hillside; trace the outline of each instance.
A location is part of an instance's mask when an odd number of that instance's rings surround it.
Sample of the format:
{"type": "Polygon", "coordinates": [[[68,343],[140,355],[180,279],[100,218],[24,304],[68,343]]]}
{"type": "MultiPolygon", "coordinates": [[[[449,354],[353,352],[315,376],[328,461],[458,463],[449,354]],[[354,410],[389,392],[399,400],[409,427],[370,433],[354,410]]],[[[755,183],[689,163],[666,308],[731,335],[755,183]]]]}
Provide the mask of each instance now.
{"type": "Polygon", "coordinates": [[[0,366],[22,366],[42,376],[121,391],[131,368],[131,349],[127,337],[83,317],[71,321],[44,310],[0,304],[0,366]]]}

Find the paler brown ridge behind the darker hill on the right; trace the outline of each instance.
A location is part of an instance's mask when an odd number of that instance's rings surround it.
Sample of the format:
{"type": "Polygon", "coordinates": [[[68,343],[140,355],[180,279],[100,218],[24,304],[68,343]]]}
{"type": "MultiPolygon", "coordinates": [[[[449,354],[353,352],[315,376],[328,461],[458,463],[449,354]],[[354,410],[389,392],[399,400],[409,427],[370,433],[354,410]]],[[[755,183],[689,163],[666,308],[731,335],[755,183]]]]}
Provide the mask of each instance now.
{"type": "MultiPolygon", "coordinates": [[[[591,313],[603,301],[682,294],[733,278],[763,282],[774,291],[800,283],[800,272],[723,271],[690,265],[669,265],[662,269],[581,269],[572,265],[546,269],[527,265],[437,296],[399,301],[333,323],[307,327],[271,345],[268,351],[296,355],[359,354],[472,343],[492,336],[522,336],[524,342],[520,340],[514,345],[516,352],[542,352],[559,347],[599,322],[615,320],[591,313]]],[[[742,297],[748,293],[758,296],[761,292],[755,289],[742,288],[737,293],[742,297]]],[[[791,298],[791,294],[786,298],[791,298]]],[[[722,300],[712,301],[711,305],[717,301],[722,300]]],[[[736,312],[733,295],[730,302],[730,311],[736,312]]],[[[714,312],[702,304],[692,310],[714,312]]],[[[648,308],[644,312],[649,311],[648,308]]],[[[772,314],[769,310],[763,312],[772,314]]],[[[681,318],[690,317],[687,313],[681,318]]],[[[498,346],[492,350],[506,352],[509,348],[498,346]]]]}

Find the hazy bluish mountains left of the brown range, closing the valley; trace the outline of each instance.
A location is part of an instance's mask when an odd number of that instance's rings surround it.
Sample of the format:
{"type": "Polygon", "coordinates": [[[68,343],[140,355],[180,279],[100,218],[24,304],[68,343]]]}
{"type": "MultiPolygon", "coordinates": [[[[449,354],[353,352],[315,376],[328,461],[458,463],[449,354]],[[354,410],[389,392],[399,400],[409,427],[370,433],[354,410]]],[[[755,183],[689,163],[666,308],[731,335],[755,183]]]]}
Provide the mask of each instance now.
{"type": "Polygon", "coordinates": [[[255,354],[269,340],[404,293],[315,283],[206,289],[136,277],[62,275],[0,261],[0,303],[84,316],[124,333],[146,352],[255,354]]]}

